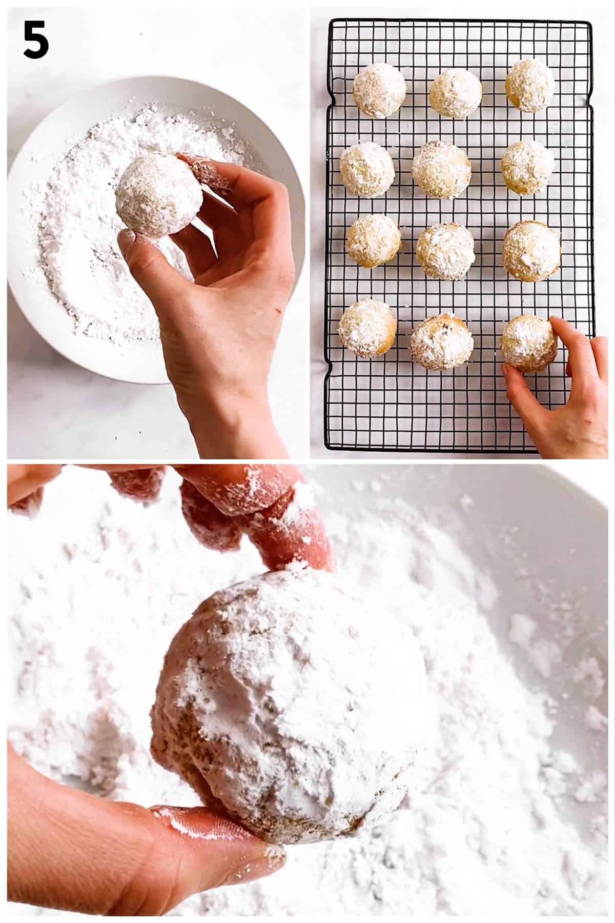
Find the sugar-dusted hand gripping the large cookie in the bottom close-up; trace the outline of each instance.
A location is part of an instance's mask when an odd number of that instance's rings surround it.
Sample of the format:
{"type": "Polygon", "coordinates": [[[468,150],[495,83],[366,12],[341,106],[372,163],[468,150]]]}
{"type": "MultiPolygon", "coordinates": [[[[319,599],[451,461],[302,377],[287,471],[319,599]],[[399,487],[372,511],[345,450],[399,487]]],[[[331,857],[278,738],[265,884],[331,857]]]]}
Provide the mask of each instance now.
{"type": "MultiPolygon", "coordinates": [[[[164,467],[94,465],[125,496],[153,502],[164,467]]],[[[331,567],[324,527],[292,465],[177,465],[183,511],[220,550],[249,535],[266,566],[300,557],[331,567]]],[[[41,491],[60,466],[9,465],[9,501],[41,491]]],[[[40,499],[40,496],[39,496],[40,499]]],[[[142,808],[59,785],[8,751],[8,897],[109,916],[160,916],[190,894],[254,881],[284,851],[204,808],[142,808]]]]}

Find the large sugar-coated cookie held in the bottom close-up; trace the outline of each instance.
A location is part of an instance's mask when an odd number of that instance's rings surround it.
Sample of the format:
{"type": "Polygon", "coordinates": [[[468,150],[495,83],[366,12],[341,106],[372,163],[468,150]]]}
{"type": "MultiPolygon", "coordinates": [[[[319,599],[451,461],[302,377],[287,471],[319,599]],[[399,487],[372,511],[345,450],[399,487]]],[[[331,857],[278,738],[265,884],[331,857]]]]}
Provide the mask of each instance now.
{"type": "Polygon", "coordinates": [[[171,641],[152,756],[268,843],[355,833],[411,784],[427,712],[405,625],[319,570],[214,593],[171,641]]]}

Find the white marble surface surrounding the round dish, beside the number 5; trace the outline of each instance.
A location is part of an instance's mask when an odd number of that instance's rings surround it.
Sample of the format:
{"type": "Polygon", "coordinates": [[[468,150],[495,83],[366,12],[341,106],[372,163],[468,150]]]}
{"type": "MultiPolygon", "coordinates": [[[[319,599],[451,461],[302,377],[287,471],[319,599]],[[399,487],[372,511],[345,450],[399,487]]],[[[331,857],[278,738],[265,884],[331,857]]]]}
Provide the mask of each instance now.
{"type": "MultiPolygon", "coordinates": [[[[114,78],[199,80],[251,108],[278,135],[307,189],[306,37],[301,10],[21,7],[8,14],[8,162],[41,119],[114,78]],[[241,12],[241,19],[237,13],[241,12]],[[50,51],[23,54],[24,19],[44,19],[50,51]]],[[[307,455],[307,273],[287,311],[270,379],[279,432],[307,455]]],[[[169,385],[125,384],[66,361],[7,305],[8,456],[12,459],[195,458],[169,385]]]]}

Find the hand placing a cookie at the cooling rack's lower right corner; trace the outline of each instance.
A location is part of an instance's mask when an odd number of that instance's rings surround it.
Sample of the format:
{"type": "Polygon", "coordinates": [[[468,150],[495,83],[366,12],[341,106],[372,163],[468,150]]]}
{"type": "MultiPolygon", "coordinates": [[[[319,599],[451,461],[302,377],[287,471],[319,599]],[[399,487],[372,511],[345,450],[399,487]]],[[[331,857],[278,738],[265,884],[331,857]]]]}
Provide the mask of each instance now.
{"type": "Polygon", "coordinates": [[[556,410],[538,403],[513,366],[503,365],[506,393],[543,459],[609,457],[608,341],[588,340],[562,318],[550,318],[568,347],[566,374],[572,387],[568,402],[556,410]]]}

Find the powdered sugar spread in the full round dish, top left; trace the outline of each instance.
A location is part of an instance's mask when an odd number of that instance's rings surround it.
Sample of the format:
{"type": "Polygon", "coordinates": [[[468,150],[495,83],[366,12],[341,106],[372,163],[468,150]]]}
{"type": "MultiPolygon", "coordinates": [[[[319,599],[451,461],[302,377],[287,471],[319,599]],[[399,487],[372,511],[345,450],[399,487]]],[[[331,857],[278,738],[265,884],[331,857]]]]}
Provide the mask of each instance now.
{"type": "MultiPolygon", "coordinates": [[[[24,209],[36,234],[32,277],[48,285],[77,333],[126,345],[156,340],[159,324],[117,246],[124,226],[115,188],[128,165],[148,154],[182,151],[242,163],[245,145],[233,126],[165,115],[152,102],[136,115],[117,114],[89,129],[46,183],[25,190],[24,209]]],[[[192,279],[182,251],[168,238],[157,246],[171,266],[192,279]]]]}

